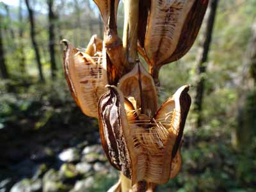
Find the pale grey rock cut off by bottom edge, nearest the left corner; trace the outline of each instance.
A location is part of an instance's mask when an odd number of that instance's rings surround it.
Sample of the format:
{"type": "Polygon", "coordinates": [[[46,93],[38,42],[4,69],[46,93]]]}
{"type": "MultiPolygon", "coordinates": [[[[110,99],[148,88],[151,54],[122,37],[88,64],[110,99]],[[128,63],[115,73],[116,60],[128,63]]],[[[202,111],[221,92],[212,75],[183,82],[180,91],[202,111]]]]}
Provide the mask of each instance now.
{"type": "Polygon", "coordinates": [[[41,180],[23,179],[17,182],[10,192],[40,192],[42,191],[41,180]]]}

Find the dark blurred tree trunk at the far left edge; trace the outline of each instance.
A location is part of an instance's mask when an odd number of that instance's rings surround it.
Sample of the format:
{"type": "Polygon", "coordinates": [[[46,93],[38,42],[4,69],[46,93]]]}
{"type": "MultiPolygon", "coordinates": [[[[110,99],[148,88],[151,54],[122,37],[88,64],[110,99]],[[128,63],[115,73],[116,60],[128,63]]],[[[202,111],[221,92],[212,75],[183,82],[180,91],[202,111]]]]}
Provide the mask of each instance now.
{"type": "Polygon", "coordinates": [[[8,79],[9,74],[5,63],[4,57],[4,45],[3,45],[3,34],[2,34],[2,16],[0,15],[0,72],[3,79],[8,79]]]}

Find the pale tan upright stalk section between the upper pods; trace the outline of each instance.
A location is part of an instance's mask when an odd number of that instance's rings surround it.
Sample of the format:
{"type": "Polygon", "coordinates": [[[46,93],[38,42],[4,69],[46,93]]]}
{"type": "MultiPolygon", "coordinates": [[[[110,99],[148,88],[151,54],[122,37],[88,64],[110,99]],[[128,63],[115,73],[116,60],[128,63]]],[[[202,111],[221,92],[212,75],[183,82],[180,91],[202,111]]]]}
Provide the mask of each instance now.
{"type": "Polygon", "coordinates": [[[124,1],[124,36],[123,47],[125,56],[130,64],[133,64],[138,56],[138,20],[139,20],[139,0],[124,1]]]}

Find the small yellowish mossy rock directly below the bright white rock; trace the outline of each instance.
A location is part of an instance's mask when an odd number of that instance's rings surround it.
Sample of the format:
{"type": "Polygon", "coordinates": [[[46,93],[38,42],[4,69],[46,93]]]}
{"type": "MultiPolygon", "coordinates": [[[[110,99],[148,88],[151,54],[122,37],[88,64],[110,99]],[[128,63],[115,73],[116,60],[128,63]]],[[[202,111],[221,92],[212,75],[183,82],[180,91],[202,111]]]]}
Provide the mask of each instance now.
{"type": "Polygon", "coordinates": [[[76,179],[78,172],[74,164],[65,163],[65,164],[62,164],[59,175],[60,175],[60,179],[65,182],[67,180],[76,179]]]}

